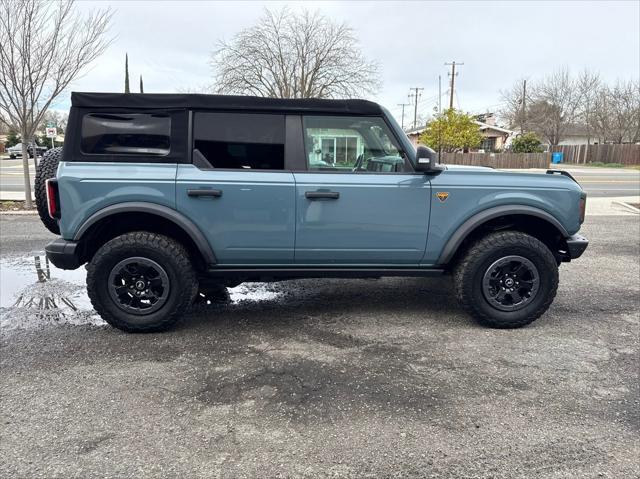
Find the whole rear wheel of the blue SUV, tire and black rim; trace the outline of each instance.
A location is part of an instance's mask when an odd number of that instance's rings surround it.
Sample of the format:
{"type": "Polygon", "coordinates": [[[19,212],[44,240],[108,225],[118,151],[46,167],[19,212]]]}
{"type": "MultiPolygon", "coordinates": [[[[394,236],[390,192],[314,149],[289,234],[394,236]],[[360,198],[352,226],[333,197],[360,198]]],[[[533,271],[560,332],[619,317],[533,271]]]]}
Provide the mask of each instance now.
{"type": "Polygon", "coordinates": [[[87,292],[110,325],[127,332],[169,329],[185,313],[198,280],[184,247],[166,236],[134,232],[102,246],[87,268],[87,292]]]}

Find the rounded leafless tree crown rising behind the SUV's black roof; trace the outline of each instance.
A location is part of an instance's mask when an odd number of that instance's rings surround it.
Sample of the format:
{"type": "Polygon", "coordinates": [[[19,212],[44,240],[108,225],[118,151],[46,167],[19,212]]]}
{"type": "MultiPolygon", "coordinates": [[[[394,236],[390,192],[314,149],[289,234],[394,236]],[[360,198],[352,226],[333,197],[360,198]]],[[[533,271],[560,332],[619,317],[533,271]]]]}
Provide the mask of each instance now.
{"type": "Polygon", "coordinates": [[[213,52],[220,93],[279,98],[355,97],[379,88],[378,65],[353,29],[320,13],[269,10],[213,52]]]}

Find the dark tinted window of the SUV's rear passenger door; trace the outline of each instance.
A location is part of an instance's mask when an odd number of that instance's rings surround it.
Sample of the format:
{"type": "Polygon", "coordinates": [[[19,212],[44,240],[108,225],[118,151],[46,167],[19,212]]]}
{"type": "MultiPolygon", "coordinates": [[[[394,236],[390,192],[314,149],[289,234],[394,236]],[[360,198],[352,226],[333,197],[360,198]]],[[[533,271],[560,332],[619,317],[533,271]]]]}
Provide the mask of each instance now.
{"type": "Polygon", "coordinates": [[[284,115],[197,112],[193,136],[213,168],[284,169],[284,115]]]}

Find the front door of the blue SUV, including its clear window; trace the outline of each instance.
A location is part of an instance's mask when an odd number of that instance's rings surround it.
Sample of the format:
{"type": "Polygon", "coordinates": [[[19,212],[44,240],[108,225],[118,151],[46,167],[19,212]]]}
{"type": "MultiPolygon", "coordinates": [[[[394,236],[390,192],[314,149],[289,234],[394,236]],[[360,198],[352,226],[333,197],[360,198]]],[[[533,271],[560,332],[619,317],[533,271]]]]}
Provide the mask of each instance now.
{"type": "Polygon", "coordinates": [[[303,118],[307,171],[294,172],[298,265],[418,265],[431,186],[382,118],[303,118]],[[325,145],[335,144],[332,162],[325,145]],[[326,158],[326,159],[325,159],[326,158]]]}

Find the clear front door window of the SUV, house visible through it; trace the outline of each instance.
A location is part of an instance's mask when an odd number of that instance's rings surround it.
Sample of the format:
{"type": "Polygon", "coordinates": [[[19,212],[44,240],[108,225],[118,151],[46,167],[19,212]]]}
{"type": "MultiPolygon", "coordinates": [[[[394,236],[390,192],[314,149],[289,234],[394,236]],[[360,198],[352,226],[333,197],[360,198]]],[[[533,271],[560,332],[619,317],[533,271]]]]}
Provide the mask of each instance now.
{"type": "Polygon", "coordinates": [[[406,171],[405,158],[382,118],[307,116],[307,166],[319,171],[406,171]]]}

